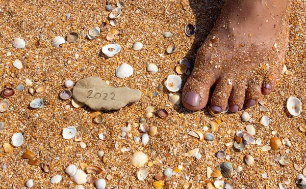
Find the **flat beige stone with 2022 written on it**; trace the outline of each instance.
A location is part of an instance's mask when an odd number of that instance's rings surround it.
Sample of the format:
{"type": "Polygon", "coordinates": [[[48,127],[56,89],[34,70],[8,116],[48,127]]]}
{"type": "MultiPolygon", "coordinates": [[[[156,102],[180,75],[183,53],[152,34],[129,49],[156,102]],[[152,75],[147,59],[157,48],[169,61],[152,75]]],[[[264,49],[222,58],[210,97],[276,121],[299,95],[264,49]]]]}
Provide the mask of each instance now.
{"type": "Polygon", "coordinates": [[[127,87],[112,87],[99,77],[87,77],[75,84],[72,97],[92,110],[119,110],[139,101],[141,92],[127,87]]]}

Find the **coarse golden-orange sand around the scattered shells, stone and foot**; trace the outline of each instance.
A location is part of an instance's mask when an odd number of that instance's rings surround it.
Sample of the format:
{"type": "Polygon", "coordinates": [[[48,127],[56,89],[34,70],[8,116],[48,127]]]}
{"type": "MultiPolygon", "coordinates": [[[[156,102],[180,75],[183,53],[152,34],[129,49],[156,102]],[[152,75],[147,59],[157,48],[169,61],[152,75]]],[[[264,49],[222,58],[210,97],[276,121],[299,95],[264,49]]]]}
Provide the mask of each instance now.
{"type": "MultiPolygon", "coordinates": [[[[117,1],[109,2],[113,8],[116,7],[117,1]]],[[[261,104],[243,108],[237,113],[227,112],[213,117],[207,107],[193,112],[182,104],[174,105],[169,102],[169,92],[158,90],[168,75],[179,75],[175,68],[181,59],[186,57],[193,64],[196,50],[213,28],[223,3],[202,0],[124,1],[125,7],[121,10],[118,24],[111,26],[108,19],[110,12],[105,8],[106,1],[0,0],[0,91],[4,90],[7,83],[13,83],[14,87],[19,84],[25,87],[23,91],[16,90],[12,98],[0,97],[0,102],[7,100],[10,103],[8,110],[0,113],[0,121],[5,123],[4,129],[0,131],[0,188],[22,188],[29,179],[34,182],[32,188],[73,188],[77,184],[71,181],[65,169],[70,164],[82,169],[80,165],[84,163],[102,169],[99,174],[88,175],[104,178],[106,188],[154,188],[154,176],[163,175],[167,167],[179,167],[182,171],[181,175],[173,175],[165,180],[165,185],[168,184],[170,188],[173,182],[177,183],[177,188],[183,188],[197,175],[200,179],[193,188],[205,188],[209,181],[214,183],[216,180],[207,177],[207,168],[214,171],[223,162],[229,162],[234,167],[231,178],[221,178],[222,181],[230,182],[233,188],[280,188],[279,184],[298,188],[296,176],[306,166],[305,133],[299,129],[305,126],[306,109],[304,0],[294,0],[291,5],[286,66],[293,74],[284,74],[276,90],[262,97],[261,104]],[[67,13],[71,13],[69,19],[67,13]],[[88,30],[103,22],[107,23],[107,31],[101,31],[97,39],[89,40],[86,37],[88,30]],[[196,33],[191,37],[184,32],[187,23],[196,25],[196,33]],[[121,45],[121,51],[107,58],[101,48],[111,42],[106,39],[111,29],[123,30],[122,35],[115,35],[112,40],[121,45]],[[79,33],[79,41],[64,43],[60,48],[52,46],[55,37],[65,38],[71,31],[79,33]],[[170,31],[173,36],[164,38],[164,31],[170,31]],[[17,37],[25,41],[25,48],[12,46],[17,37]],[[35,45],[37,40],[40,41],[38,47],[35,45]],[[135,51],[132,45],[137,41],[143,43],[143,48],[135,51]],[[171,43],[176,45],[177,50],[167,54],[165,50],[171,43]],[[22,62],[22,69],[13,66],[16,59],[22,62]],[[134,68],[134,74],[129,78],[118,78],[115,70],[124,62],[134,68]],[[158,66],[157,73],[146,71],[149,63],[158,66]],[[118,111],[101,111],[104,121],[97,124],[93,121],[95,111],[87,106],[74,108],[71,99],[59,98],[59,93],[66,89],[65,80],[77,83],[89,76],[109,81],[113,87],[138,89],[142,92],[142,98],[118,111]],[[25,84],[26,79],[30,79],[32,85],[25,84]],[[30,88],[37,90],[39,87],[46,89],[33,94],[29,92],[30,88]],[[158,92],[158,95],[152,95],[154,92],[158,92]],[[291,96],[302,103],[298,116],[290,115],[286,108],[291,96]],[[42,109],[30,108],[30,102],[36,98],[43,99],[42,109]],[[261,111],[262,104],[269,111],[261,111]],[[152,117],[146,118],[146,123],[156,126],[158,133],[150,136],[148,144],[143,145],[133,138],[142,135],[138,131],[139,119],[144,116],[148,106],[155,110],[152,117]],[[160,108],[168,111],[167,118],[158,117],[157,110],[160,108]],[[243,112],[249,113],[250,121],[242,121],[243,112]],[[266,127],[260,123],[263,116],[270,120],[266,127]],[[128,132],[132,134],[131,137],[122,137],[120,131],[126,121],[132,125],[128,132]],[[213,141],[188,135],[190,131],[210,132],[202,130],[210,121],[219,123],[218,131],[213,133],[213,141]],[[254,140],[260,139],[261,143],[246,145],[242,151],[238,151],[233,146],[236,132],[245,130],[249,124],[256,131],[254,140]],[[63,138],[63,129],[69,126],[82,131],[85,148],[81,148],[80,142],[63,138]],[[24,142],[6,153],[3,145],[12,145],[11,137],[15,133],[22,133],[24,142]],[[105,134],[106,140],[99,139],[101,133],[105,134]],[[272,137],[283,140],[284,144],[277,150],[262,150],[265,145],[270,145],[272,137]],[[291,146],[285,145],[287,140],[291,146]],[[131,145],[131,150],[122,152],[121,148],[126,143],[131,145]],[[199,148],[202,154],[200,160],[183,155],[195,148],[199,148]],[[35,153],[37,164],[49,164],[50,171],[45,173],[38,165],[29,165],[29,160],[21,157],[27,150],[35,153]],[[104,151],[103,157],[97,155],[99,150],[104,151]],[[222,159],[216,157],[219,150],[226,151],[222,159]],[[148,170],[144,180],[137,178],[140,168],[130,162],[130,156],[135,151],[141,151],[148,157],[148,163],[143,166],[148,170]],[[246,154],[254,158],[253,165],[245,163],[246,154]],[[281,154],[288,155],[286,166],[274,161],[281,154]],[[242,167],[240,172],[236,171],[238,166],[242,167]],[[62,180],[53,184],[50,179],[55,175],[61,175],[62,180]]],[[[180,76],[185,84],[188,76],[180,76]]],[[[93,183],[85,183],[83,187],[95,188],[93,183]]]]}

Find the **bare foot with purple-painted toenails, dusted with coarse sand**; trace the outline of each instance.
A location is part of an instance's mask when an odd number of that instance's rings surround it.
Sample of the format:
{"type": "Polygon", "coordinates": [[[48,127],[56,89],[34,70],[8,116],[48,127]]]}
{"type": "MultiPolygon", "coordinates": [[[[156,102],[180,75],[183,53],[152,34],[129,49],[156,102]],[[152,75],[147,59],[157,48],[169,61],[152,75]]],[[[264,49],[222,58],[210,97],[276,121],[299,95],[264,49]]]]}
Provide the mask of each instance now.
{"type": "Polygon", "coordinates": [[[204,108],[215,85],[211,109],[232,112],[269,94],[284,66],[288,48],[290,0],[228,0],[214,28],[197,52],[183,88],[190,110],[204,108]],[[260,87],[261,86],[261,87],[260,87]]]}

